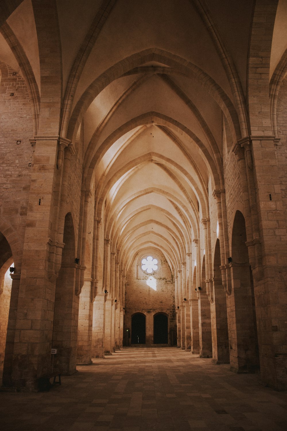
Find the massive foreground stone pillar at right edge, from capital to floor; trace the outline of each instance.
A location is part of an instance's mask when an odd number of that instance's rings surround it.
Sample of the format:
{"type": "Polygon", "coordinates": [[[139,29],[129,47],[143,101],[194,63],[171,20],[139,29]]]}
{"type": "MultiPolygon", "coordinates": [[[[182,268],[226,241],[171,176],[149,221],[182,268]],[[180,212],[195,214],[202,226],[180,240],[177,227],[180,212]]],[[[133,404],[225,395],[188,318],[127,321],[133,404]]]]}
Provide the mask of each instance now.
{"type": "MultiPolygon", "coordinates": [[[[266,87],[266,94],[267,90],[266,87]]],[[[287,233],[276,141],[274,136],[249,136],[238,141],[235,152],[240,153],[240,148],[244,150],[250,195],[251,223],[246,225],[246,230],[254,281],[260,372],[266,384],[283,390],[287,388],[284,350],[287,233]]]]}

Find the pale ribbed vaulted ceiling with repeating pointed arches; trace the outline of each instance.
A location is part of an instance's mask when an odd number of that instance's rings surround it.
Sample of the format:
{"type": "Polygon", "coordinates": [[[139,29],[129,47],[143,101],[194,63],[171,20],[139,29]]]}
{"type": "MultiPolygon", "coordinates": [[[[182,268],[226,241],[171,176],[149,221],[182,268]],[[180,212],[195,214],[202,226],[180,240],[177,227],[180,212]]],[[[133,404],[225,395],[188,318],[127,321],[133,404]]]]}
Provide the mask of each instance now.
{"type": "MultiPolygon", "coordinates": [[[[40,100],[37,2],[15,3],[0,35],[1,60],[21,72],[7,36],[12,31],[40,100]]],[[[96,191],[96,216],[105,211],[106,236],[125,268],[137,251],[154,247],[176,269],[201,219],[209,217],[209,188],[223,188],[223,151],[247,134],[253,2],[55,4],[62,50],[59,133],[83,141],[84,185],[96,191]]],[[[279,1],[280,14],[286,6],[279,1]]],[[[284,25],[278,17],[273,71],[286,49],[284,25]]]]}

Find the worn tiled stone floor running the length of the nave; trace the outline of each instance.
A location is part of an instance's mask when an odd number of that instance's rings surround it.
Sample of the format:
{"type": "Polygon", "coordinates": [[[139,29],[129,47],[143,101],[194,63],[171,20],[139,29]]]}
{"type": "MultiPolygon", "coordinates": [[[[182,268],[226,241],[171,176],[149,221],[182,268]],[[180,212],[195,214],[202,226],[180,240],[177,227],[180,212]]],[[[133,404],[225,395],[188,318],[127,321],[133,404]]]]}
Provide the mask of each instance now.
{"type": "Polygon", "coordinates": [[[287,393],[176,348],[127,348],[42,393],[0,393],[0,429],[279,431],[287,393]]]}

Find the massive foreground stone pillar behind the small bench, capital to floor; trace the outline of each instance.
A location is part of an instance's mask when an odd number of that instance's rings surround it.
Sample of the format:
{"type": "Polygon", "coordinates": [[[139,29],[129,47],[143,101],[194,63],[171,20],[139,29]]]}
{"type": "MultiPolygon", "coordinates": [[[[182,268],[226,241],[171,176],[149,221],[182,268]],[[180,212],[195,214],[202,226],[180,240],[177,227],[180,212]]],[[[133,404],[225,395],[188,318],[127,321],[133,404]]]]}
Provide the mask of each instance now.
{"type": "Polygon", "coordinates": [[[63,148],[70,143],[59,136],[35,139],[10,381],[24,390],[37,388],[37,378],[51,370],[56,279],[63,248],[55,215],[61,203],[63,148]]]}

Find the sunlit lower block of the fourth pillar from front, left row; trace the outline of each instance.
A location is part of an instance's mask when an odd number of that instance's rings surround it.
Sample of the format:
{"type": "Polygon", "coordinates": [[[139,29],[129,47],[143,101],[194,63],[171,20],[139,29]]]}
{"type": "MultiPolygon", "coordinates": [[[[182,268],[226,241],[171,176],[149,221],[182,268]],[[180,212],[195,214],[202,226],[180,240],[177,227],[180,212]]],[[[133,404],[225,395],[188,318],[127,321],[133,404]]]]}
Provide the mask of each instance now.
{"type": "Polygon", "coordinates": [[[97,294],[93,303],[92,357],[104,358],[105,294],[97,294]]]}

